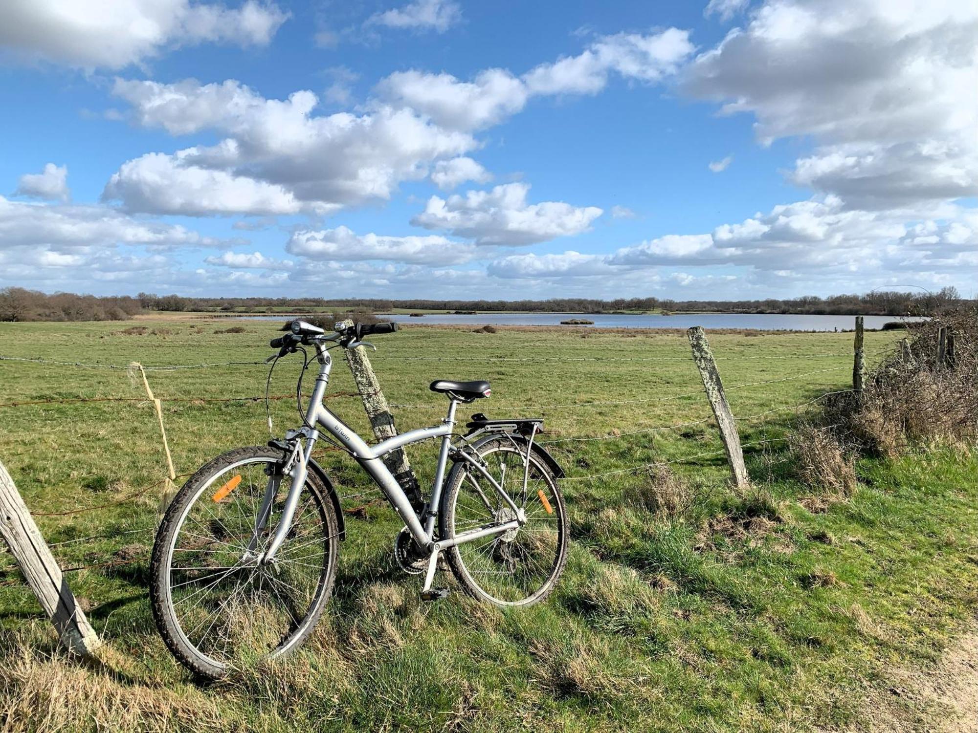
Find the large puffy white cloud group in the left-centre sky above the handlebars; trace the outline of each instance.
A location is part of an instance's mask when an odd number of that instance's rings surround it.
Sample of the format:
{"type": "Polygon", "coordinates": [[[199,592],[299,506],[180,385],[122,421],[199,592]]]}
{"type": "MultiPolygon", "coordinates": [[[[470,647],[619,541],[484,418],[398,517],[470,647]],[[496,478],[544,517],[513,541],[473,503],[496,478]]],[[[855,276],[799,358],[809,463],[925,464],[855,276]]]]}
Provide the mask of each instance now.
{"type": "Polygon", "coordinates": [[[402,181],[427,175],[427,165],[476,147],[471,136],[444,130],[411,109],[313,114],[318,100],[310,91],[283,101],[237,81],[118,80],[114,92],[132,104],[141,126],[228,136],[214,146],[125,163],[106,196],[132,211],[328,213],[387,199],[402,181]]]}

